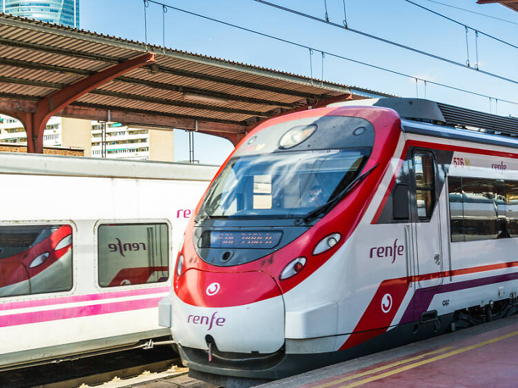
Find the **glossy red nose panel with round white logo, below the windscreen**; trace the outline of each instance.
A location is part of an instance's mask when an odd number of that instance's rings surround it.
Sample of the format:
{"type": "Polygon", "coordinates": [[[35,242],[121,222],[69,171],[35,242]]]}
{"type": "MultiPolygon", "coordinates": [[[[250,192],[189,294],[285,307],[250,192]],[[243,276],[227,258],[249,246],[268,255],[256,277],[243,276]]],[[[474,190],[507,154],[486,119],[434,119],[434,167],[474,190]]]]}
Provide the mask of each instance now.
{"type": "Polygon", "coordinates": [[[191,268],[178,283],[178,297],[200,307],[242,306],[280,295],[276,281],[260,271],[209,272],[191,268]],[[214,295],[207,295],[207,288],[213,283],[220,288],[214,295]]]}

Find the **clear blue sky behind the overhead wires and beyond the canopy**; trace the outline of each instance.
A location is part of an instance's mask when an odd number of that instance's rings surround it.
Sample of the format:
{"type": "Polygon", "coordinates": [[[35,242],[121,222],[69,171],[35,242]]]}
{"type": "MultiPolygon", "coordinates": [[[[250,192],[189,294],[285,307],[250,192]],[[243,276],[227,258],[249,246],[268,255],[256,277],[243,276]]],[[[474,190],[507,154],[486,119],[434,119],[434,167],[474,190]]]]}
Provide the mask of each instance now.
{"type": "MultiPolygon", "coordinates": [[[[329,21],[336,24],[343,23],[345,3],[349,28],[455,62],[466,63],[469,50],[470,67],[474,67],[478,54],[478,65],[482,71],[515,82],[461,68],[254,0],[159,2],[309,46],[314,48],[313,55],[309,55],[307,48],[237,30],[171,8],[164,14],[162,6],[151,2],[146,8],[145,29],[143,0],[81,0],[80,27],[135,41],[144,41],[147,35],[148,43],[160,46],[164,43],[168,48],[305,76],[310,76],[312,71],[313,77],[320,78],[323,75],[324,80],[347,86],[401,97],[428,98],[459,107],[518,117],[518,105],[502,101],[518,102],[518,12],[499,4],[480,5],[476,0],[412,0],[479,31],[476,37],[474,31],[469,30],[466,38],[463,25],[454,24],[405,0],[269,1],[319,18],[325,17],[327,6],[329,21]],[[490,39],[483,33],[507,41],[517,48],[490,39]],[[412,77],[489,95],[493,99],[435,86],[429,82],[426,86],[421,81],[416,84],[414,79],[332,55],[325,55],[323,59],[320,50],[412,77]]],[[[228,140],[195,133],[195,159],[200,160],[200,163],[221,164],[232,149],[228,140]]],[[[175,130],[175,160],[185,159],[189,159],[187,133],[175,130]]]]}

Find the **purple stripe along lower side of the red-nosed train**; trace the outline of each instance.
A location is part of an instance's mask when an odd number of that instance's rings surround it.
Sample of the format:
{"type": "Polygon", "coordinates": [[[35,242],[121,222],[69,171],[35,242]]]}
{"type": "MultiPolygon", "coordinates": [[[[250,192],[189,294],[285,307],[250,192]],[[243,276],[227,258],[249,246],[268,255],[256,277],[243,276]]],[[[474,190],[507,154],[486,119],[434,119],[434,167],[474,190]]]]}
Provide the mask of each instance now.
{"type": "Polygon", "coordinates": [[[437,294],[466,290],[467,288],[487,286],[488,284],[495,284],[502,281],[510,281],[515,279],[518,279],[518,272],[507,273],[505,275],[482,277],[479,279],[457,281],[455,283],[443,284],[441,286],[419,288],[414,292],[414,296],[408,304],[407,309],[399,323],[403,324],[419,320],[421,313],[428,311],[433,297],[437,294]]]}

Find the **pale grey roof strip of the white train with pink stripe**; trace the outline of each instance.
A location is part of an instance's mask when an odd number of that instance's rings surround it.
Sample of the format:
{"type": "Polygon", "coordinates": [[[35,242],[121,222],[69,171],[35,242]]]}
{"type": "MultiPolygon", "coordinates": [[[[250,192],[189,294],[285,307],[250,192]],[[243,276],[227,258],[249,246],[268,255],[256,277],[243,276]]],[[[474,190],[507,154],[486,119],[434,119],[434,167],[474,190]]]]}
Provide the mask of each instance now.
{"type": "Polygon", "coordinates": [[[211,181],[218,166],[0,152],[0,174],[211,181]]]}

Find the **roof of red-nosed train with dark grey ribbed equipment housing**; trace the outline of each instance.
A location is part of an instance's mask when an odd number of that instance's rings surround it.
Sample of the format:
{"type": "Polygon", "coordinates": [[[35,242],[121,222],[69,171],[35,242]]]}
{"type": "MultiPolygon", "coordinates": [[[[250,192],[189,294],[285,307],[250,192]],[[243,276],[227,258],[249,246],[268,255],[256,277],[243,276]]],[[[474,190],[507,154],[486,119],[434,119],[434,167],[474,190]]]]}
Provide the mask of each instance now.
{"type": "Polygon", "coordinates": [[[518,148],[518,119],[511,116],[498,116],[421,98],[369,98],[328,106],[390,108],[399,114],[403,131],[407,133],[518,148]]]}

